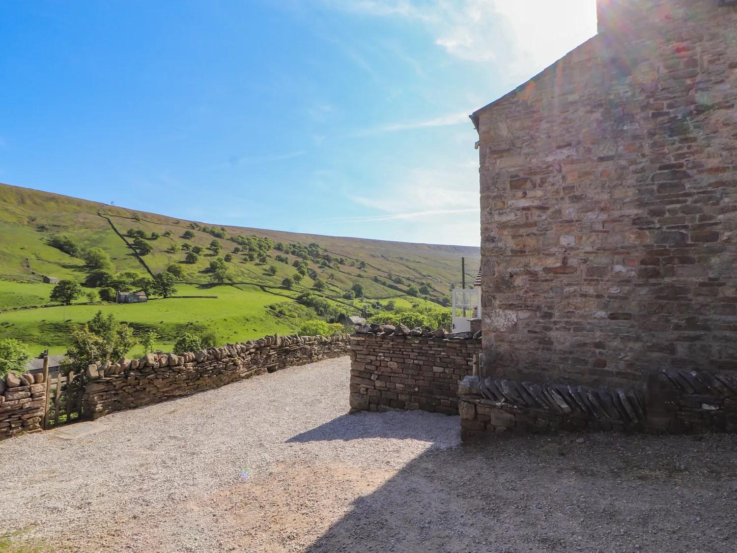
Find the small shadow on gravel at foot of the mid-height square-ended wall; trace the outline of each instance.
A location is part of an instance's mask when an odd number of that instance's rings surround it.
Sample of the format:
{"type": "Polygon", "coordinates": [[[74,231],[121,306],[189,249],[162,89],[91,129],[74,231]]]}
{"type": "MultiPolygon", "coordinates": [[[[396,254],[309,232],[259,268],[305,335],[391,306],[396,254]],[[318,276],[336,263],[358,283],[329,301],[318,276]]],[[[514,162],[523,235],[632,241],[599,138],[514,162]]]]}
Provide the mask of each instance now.
{"type": "Polygon", "coordinates": [[[287,439],[287,443],[322,442],[331,439],[394,438],[421,442],[458,441],[458,417],[424,411],[344,414],[312,430],[287,439]]]}

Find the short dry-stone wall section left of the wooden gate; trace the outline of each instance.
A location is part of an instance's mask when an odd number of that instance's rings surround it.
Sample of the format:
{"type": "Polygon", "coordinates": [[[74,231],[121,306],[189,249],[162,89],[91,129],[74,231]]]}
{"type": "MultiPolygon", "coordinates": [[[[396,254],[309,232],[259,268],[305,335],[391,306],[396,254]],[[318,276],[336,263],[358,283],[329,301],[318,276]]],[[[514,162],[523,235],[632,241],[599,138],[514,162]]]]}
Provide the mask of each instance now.
{"type": "Polygon", "coordinates": [[[43,375],[9,372],[0,378],[0,440],[40,431],[45,408],[43,375]]]}

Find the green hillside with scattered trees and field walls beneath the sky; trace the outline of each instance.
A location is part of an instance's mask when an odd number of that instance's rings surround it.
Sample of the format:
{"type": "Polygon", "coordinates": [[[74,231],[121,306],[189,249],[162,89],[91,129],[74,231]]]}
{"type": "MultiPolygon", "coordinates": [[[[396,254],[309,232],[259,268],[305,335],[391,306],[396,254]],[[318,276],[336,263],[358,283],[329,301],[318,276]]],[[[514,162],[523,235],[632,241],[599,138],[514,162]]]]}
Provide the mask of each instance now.
{"type": "Polygon", "coordinates": [[[99,309],[134,327],[156,329],[166,346],[186,325],[215,330],[221,341],[235,341],[293,333],[316,314],[326,319],[335,319],[338,312],[370,314],[388,302],[441,308],[448,303],[450,288],[461,281],[461,257],[467,260],[467,282],[472,281],[478,248],[220,226],[0,184],[0,338],[60,351],[71,324],[86,321],[99,309]],[[150,253],[140,255],[133,246],[136,234],[144,237],[139,243],[149,245],[150,253]],[[70,255],[52,245],[62,236],[79,253],[70,255]],[[213,240],[220,248],[211,247],[213,240]],[[86,305],[88,299],[82,297],[67,307],[49,306],[53,285],[43,284],[43,277],[88,281],[93,269],[81,257],[94,247],[111,258],[113,274],[153,276],[177,265],[183,272],[177,296],[217,297],[139,305],[86,305]],[[195,262],[187,262],[183,247],[202,251],[195,262]],[[210,269],[216,260],[222,266],[220,278],[210,269]],[[304,277],[292,289],[284,288],[283,279],[298,272],[296,262],[304,277]],[[316,279],[324,282],[324,289],[315,290],[316,279]],[[363,294],[353,298],[349,291],[357,284],[363,294]],[[307,291],[329,302],[330,316],[296,301],[307,291]]]}

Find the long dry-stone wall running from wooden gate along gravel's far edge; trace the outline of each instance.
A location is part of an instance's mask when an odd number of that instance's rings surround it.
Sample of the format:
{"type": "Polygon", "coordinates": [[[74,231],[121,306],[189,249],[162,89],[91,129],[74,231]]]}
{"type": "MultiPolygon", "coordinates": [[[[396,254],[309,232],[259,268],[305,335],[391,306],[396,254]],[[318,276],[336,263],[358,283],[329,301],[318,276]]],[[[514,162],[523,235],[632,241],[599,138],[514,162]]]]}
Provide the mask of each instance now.
{"type": "Polygon", "coordinates": [[[231,382],[275,372],[288,366],[348,355],[349,337],[266,336],[199,352],[122,359],[108,366],[91,365],[84,397],[85,417],[170,400],[231,382]]]}

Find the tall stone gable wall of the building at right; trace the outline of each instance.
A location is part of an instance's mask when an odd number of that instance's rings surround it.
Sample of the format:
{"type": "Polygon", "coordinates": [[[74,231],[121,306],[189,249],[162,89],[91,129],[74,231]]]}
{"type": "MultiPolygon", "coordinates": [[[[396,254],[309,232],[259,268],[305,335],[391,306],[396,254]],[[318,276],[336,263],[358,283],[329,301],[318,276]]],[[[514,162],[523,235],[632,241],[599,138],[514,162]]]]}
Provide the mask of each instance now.
{"type": "Polygon", "coordinates": [[[598,35],[472,115],[487,374],[737,369],[730,4],[598,0],[598,35]]]}

